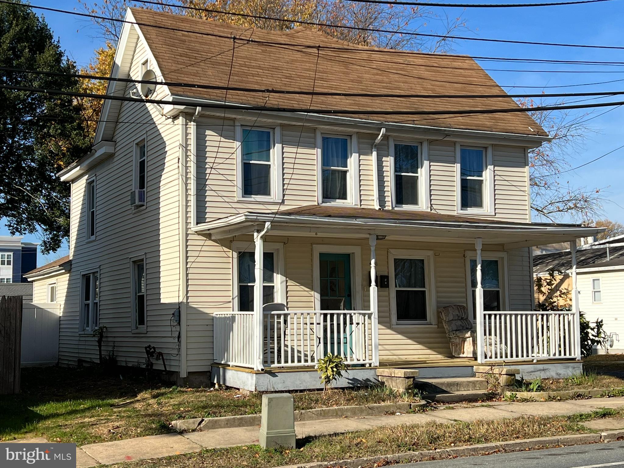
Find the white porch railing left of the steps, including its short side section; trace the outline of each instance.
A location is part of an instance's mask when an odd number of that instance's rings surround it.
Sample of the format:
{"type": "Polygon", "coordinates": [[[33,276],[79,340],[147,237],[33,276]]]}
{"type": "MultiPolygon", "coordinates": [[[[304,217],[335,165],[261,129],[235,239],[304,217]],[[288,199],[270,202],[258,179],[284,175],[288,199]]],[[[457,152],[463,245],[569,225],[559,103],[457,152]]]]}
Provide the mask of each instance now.
{"type": "MultiPolygon", "coordinates": [[[[215,361],[253,368],[253,312],[214,315],[215,361]]],[[[372,365],[373,312],[273,311],[263,313],[265,368],[314,367],[328,353],[350,366],[372,365]]]]}

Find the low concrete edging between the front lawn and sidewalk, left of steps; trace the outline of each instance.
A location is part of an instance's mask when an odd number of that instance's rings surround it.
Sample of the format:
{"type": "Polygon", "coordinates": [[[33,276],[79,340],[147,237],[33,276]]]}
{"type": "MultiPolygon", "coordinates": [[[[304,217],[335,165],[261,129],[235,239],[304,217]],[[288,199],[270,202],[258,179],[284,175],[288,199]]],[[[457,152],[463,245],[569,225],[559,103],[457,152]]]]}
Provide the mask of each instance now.
{"type": "MultiPolygon", "coordinates": [[[[374,403],[357,406],[336,406],[329,408],[303,409],[295,411],[295,421],[317,421],[338,417],[383,416],[388,412],[407,412],[420,409],[427,405],[426,401],[414,403],[374,403]]],[[[212,429],[229,429],[233,427],[260,426],[261,414],[246,414],[243,416],[223,417],[196,417],[193,419],[179,419],[171,425],[178,432],[212,431],[212,429]]]]}

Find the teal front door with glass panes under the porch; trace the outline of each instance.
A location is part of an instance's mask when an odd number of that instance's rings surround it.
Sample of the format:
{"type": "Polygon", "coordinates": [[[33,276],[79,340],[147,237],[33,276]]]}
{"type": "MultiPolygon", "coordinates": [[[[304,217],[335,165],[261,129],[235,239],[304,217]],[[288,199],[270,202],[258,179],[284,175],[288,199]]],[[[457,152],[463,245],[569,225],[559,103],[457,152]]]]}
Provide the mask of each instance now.
{"type": "Polygon", "coordinates": [[[351,255],[319,254],[321,310],[353,310],[351,298],[351,255]]]}

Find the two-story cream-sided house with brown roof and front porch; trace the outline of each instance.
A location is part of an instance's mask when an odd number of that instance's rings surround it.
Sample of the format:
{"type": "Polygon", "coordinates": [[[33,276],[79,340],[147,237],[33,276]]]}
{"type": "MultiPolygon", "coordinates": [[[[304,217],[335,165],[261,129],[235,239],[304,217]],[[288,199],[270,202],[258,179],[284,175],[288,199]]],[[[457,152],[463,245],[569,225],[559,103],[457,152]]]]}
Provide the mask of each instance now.
{"type": "Polygon", "coordinates": [[[62,364],[97,361],[105,326],[122,365],[150,345],[182,381],[252,390],[318,388],[328,352],[349,365],[342,384],[379,366],[580,370],[577,311],[532,311],[530,248],[599,230],[531,222],[527,152],[548,135],[525,112],[488,113],[519,107],[470,57],[126,20],[93,149],[59,174],[62,364]],[[426,114],[456,109],[485,112],[426,114]],[[476,361],[452,356],[451,305],[476,361]]]}

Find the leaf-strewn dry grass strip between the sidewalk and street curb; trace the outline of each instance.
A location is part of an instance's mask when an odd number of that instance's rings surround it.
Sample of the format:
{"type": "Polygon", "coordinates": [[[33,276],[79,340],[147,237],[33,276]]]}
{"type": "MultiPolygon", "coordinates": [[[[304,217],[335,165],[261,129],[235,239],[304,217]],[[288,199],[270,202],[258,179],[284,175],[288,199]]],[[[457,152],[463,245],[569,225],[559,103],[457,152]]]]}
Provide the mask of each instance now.
{"type": "MultiPolygon", "coordinates": [[[[336,436],[310,437],[298,441],[295,450],[265,450],[260,446],[212,449],[163,459],[117,464],[115,468],[268,468],[312,461],[336,461],[451,446],[514,441],[534,437],[596,432],[583,421],[622,417],[624,411],[601,409],[573,416],[518,417],[502,421],[457,422],[378,427],[336,436]]],[[[383,466],[379,463],[375,466],[383,466]]]]}

